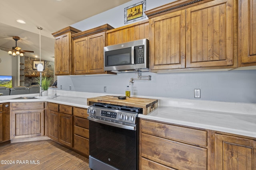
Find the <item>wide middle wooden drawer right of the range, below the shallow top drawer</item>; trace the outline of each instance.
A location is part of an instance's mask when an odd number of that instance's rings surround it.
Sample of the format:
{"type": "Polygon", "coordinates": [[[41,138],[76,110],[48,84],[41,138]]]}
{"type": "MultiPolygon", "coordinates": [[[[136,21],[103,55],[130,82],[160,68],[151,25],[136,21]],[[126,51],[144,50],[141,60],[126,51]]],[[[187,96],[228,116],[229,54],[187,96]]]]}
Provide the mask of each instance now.
{"type": "Polygon", "coordinates": [[[207,169],[207,149],[144,133],[141,156],[179,170],[207,169]]]}

